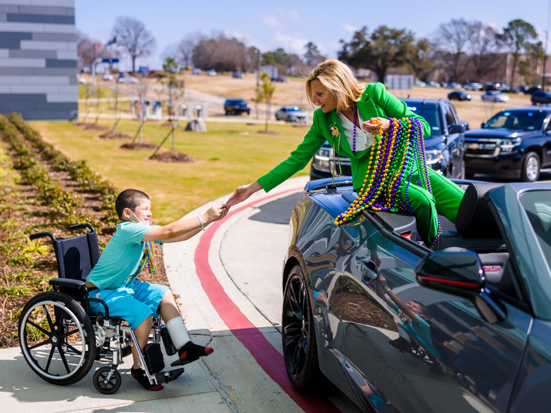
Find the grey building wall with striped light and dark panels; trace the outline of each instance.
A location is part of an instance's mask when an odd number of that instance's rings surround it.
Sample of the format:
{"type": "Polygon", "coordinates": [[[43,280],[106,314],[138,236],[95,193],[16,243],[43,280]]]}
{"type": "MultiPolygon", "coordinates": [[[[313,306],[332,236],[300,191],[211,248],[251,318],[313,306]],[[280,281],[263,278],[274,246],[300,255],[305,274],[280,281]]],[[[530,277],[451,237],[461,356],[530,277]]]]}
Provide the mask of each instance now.
{"type": "Polygon", "coordinates": [[[0,113],[76,120],[74,0],[0,0],[0,113]]]}

